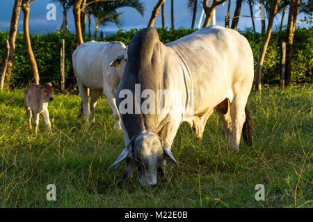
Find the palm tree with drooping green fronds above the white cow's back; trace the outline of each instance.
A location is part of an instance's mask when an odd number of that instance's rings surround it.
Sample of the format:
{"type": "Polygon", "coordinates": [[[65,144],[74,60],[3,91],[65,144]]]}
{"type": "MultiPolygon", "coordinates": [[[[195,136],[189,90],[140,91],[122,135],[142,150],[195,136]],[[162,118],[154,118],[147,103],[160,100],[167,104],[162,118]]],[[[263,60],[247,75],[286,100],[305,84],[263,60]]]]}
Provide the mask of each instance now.
{"type": "Polygon", "coordinates": [[[121,26],[120,17],[122,12],[116,12],[118,8],[131,7],[136,9],[141,16],[145,11],[144,4],[141,0],[127,0],[127,1],[106,1],[93,3],[87,6],[87,11],[95,17],[95,38],[99,25],[106,26],[106,24],[113,23],[116,26],[121,26]]]}

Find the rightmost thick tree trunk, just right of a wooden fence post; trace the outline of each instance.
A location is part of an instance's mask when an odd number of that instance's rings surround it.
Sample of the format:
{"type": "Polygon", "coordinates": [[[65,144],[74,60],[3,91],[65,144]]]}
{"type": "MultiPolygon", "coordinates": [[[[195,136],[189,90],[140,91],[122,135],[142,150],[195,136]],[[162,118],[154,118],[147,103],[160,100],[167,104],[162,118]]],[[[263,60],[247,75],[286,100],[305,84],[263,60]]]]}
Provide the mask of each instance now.
{"type": "Polygon", "coordinates": [[[291,62],[292,62],[292,44],[294,43],[294,32],[296,31],[296,22],[300,0],[291,0],[289,6],[288,25],[287,25],[287,45],[286,45],[286,69],[285,69],[285,86],[289,85],[291,79],[291,62]]]}

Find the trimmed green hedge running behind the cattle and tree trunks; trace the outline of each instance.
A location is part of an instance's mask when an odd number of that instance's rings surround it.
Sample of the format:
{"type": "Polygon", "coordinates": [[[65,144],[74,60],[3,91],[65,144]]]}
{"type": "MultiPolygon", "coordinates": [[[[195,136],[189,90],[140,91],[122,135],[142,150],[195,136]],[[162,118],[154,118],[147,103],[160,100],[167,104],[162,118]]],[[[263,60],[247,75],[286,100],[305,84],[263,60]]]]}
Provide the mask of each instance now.
{"type": "MultiPolygon", "coordinates": [[[[164,29],[157,28],[160,40],[163,43],[172,42],[179,37],[192,33],[190,29],[164,29]]],[[[120,30],[116,34],[107,35],[103,39],[98,37],[97,41],[120,41],[129,44],[131,37],[137,32],[137,29],[130,31],[120,30]]],[[[264,35],[259,33],[251,33],[250,31],[241,32],[250,42],[255,58],[255,67],[259,57],[264,35]]],[[[273,33],[271,41],[268,44],[266,57],[262,69],[262,82],[267,84],[277,84],[280,76],[280,46],[285,39],[286,32],[273,33]]],[[[8,32],[0,32],[0,57],[3,51],[3,42],[8,39],[8,32]]],[[[73,33],[56,32],[46,33],[43,35],[31,35],[31,44],[33,53],[38,64],[40,74],[40,82],[50,82],[58,85],[59,75],[59,46],[58,41],[65,39],[65,78],[70,72],[70,64],[72,60],[72,51],[75,44],[75,35],[73,33]]],[[[84,41],[90,39],[85,37],[84,41]]],[[[294,37],[294,60],[291,70],[291,83],[311,83],[312,82],[312,51],[313,51],[313,30],[305,28],[297,29],[294,37]]],[[[1,58],[0,58],[1,60],[1,58]]],[[[22,33],[17,34],[15,59],[13,62],[13,71],[10,85],[12,87],[24,87],[31,81],[31,67],[26,56],[26,48],[24,46],[24,37],[22,33]]]]}

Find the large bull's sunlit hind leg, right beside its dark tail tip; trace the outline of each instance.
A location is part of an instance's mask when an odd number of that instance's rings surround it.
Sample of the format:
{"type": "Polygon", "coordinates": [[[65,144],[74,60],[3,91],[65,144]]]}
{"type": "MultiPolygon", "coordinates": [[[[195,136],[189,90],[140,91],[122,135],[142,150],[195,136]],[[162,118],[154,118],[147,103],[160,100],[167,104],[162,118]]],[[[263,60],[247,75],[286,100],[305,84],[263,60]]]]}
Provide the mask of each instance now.
{"type": "Polygon", "coordinates": [[[228,148],[235,151],[239,151],[241,131],[243,123],[246,121],[246,103],[246,98],[235,97],[230,104],[230,118],[232,119],[232,130],[230,133],[228,148]]]}

